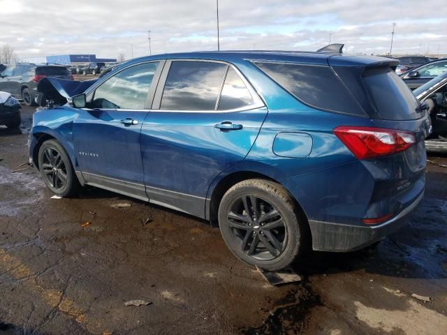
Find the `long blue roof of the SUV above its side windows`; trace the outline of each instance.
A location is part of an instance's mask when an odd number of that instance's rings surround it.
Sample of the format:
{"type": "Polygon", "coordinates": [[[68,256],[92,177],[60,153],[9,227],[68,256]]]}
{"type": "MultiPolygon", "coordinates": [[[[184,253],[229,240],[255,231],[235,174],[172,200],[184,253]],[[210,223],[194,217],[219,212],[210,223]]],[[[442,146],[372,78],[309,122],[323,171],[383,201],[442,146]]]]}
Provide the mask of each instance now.
{"type": "Polygon", "coordinates": [[[126,64],[156,59],[210,59],[217,61],[282,61],[302,64],[331,66],[372,66],[374,64],[393,64],[398,61],[385,57],[354,56],[349,54],[336,54],[330,52],[302,52],[302,51],[263,51],[263,50],[230,50],[230,51],[200,51],[182,52],[173,54],[158,54],[154,56],[140,57],[125,62],[126,64]]]}

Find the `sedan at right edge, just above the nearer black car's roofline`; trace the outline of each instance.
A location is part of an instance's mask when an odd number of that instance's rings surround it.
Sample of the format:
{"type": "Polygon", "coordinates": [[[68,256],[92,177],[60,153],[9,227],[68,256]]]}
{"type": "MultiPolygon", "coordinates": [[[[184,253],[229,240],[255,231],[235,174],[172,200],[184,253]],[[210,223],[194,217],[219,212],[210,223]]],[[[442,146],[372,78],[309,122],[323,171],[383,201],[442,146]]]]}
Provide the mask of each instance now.
{"type": "Polygon", "coordinates": [[[412,70],[403,73],[400,77],[404,80],[405,84],[413,90],[426,82],[430,82],[434,77],[437,77],[446,71],[447,59],[439,59],[413,68],[412,70]]]}

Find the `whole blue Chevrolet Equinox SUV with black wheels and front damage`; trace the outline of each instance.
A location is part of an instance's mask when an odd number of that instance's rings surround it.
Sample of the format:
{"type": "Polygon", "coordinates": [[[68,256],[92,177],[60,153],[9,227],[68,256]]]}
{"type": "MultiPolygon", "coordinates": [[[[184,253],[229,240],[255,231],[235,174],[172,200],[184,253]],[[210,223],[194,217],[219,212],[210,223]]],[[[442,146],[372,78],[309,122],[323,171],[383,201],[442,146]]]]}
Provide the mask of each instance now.
{"type": "Polygon", "coordinates": [[[91,185],[217,221],[252,266],[353,251],[424,194],[430,118],[395,66],[326,52],[133,59],[36,112],[30,161],[57,195],[91,185]]]}

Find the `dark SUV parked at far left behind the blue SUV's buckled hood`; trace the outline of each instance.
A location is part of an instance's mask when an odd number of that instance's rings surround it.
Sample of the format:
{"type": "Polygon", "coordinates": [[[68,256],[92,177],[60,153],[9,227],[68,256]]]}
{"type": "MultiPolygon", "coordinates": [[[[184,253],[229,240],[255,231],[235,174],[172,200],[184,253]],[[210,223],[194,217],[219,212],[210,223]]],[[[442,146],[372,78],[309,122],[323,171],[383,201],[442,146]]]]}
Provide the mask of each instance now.
{"type": "Polygon", "coordinates": [[[37,84],[44,77],[73,79],[65,66],[17,63],[8,66],[0,74],[0,91],[5,91],[15,98],[23,99],[27,105],[35,105],[38,95],[37,84]]]}

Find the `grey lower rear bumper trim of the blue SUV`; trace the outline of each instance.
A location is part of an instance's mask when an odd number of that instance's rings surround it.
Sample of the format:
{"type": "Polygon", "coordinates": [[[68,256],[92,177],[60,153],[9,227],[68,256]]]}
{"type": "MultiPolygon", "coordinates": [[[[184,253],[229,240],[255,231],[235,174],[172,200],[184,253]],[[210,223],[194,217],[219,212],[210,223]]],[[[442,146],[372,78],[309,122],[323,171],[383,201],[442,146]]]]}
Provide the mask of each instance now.
{"type": "Polygon", "coordinates": [[[394,232],[404,225],[407,216],[423,199],[424,192],[402,209],[397,216],[374,226],[345,225],[309,220],[312,232],[312,248],[316,251],[347,252],[356,251],[373,244],[382,237],[394,232]]]}

